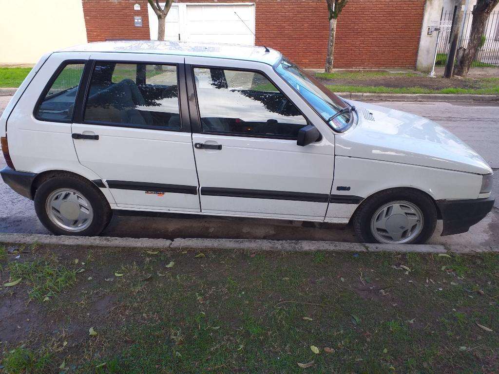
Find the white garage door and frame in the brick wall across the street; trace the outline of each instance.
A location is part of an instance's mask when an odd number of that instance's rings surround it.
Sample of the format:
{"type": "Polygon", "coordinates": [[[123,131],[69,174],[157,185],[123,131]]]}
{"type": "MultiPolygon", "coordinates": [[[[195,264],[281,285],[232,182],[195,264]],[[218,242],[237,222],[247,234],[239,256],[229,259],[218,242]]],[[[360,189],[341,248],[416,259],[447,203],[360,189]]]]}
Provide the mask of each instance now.
{"type": "MultiPolygon", "coordinates": [[[[157,40],[158,18],[150,5],[148,10],[151,40],[157,40]]],[[[250,32],[254,32],[254,17],[252,3],[173,3],[166,18],[165,40],[254,45],[250,32]]]]}

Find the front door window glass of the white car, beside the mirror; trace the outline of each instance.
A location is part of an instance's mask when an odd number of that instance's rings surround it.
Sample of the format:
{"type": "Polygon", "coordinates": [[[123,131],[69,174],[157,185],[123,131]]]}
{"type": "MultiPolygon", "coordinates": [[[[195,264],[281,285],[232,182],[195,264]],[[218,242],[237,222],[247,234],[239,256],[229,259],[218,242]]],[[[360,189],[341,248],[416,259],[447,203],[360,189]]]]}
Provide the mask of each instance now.
{"type": "Polygon", "coordinates": [[[196,67],[194,77],[203,132],[296,139],[307,125],[258,72],[196,67]]]}

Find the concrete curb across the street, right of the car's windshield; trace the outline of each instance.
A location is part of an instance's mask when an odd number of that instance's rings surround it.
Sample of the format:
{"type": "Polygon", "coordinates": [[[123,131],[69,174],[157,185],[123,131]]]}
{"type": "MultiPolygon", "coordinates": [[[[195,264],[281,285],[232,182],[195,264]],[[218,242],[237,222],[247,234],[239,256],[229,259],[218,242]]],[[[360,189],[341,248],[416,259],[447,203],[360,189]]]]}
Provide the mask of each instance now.
{"type": "Polygon", "coordinates": [[[380,94],[336,92],[338,96],[350,100],[385,101],[499,101],[499,95],[455,95],[455,94],[380,94]]]}

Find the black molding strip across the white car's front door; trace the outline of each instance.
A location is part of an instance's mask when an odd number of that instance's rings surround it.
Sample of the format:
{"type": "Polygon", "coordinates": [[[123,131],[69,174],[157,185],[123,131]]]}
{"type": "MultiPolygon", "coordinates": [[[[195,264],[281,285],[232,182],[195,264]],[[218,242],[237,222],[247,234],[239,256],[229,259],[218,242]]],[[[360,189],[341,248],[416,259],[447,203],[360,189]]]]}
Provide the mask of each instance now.
{"type": "Polygon", "coordinates": [[[273,200],[294,200],[327,202],[329,195],[326,193],[272,191],[266,189],[246,189],[246,188],[222,188],[222,187],[201,187],[201,194],[204,196],[228,196],[228,197],[249,197],[266,198],[273,200]]]}

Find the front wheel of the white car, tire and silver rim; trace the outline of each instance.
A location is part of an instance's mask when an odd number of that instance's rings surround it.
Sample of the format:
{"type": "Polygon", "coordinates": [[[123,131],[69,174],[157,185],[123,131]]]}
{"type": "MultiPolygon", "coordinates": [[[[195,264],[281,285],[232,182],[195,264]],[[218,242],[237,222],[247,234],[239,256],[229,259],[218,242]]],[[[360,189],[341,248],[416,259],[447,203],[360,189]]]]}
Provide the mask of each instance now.
{"type": "Polygon", "coordinates": [[[422,244],[435,231],[437,208],[424,192],[394,188],[364,200],[352,223],[363,243],[422,244]]]}

